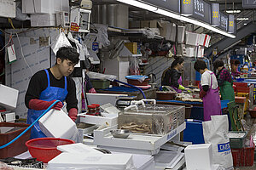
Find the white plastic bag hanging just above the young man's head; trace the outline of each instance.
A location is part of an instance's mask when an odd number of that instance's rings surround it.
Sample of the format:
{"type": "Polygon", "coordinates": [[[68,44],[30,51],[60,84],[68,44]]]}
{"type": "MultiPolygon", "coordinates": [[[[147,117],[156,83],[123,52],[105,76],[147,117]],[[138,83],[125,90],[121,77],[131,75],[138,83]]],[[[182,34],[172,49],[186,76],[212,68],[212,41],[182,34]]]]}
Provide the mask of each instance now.
{"type": "Polygon", "coordinates": [[[72,47],[72,45],[68,41],[64,32],[61,32],[59,34],[59,36],[56,38],[56,40],[53,40],[50,47],[52,48],[52,51],[54,52],[54,54],[57,54],[57,51],[59,50],[59,48],[61,48],[61,47],[72,47]]]}

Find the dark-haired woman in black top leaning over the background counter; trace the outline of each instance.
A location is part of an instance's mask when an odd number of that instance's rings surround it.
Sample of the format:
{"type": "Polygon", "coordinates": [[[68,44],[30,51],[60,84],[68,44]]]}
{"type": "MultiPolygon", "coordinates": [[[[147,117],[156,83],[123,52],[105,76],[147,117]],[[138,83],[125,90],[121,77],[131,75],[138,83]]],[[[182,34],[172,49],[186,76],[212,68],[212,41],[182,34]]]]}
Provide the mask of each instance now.
{"type": "Polygon", "coordinates": [[[161,77],[161,85],[162,86],[170,86],[174,88],[177,93],[182,93],[182,90],[187,90],[188,88],[184,88],[182,85],[182,77],[181,71],[183,71],[184,59],[181,57],[177,57],[173,62],[171,67],[167,68],[161,77]]]}

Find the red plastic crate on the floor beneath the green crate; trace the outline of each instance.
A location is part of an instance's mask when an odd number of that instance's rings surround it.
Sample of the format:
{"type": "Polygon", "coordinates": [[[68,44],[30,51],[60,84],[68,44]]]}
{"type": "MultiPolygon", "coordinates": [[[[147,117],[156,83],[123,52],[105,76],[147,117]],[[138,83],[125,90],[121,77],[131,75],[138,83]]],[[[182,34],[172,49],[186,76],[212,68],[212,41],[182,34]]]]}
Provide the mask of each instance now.
{"type": "Polygon", "coordinates": [[[254,149],[255,144],[253,144],[253,147],[231,149],[234,167],[253,166],[254,149]]]}

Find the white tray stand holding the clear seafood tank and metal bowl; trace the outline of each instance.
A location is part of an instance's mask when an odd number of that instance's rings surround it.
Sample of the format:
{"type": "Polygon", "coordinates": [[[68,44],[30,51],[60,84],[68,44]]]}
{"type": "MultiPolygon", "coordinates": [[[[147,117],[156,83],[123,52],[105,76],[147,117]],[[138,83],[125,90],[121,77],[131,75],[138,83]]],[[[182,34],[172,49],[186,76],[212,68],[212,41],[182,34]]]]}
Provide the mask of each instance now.
{"type": "Polygon", "coordinates": [[[165,135],[131,133],[128,139],[113,138],[110,130],[117,129],[117,125],[94,131],[94,144],[112,150],[123,152],[157,154],[160,146],[177,136],[186,128],[183,122],[180,126],[165,135]]]}

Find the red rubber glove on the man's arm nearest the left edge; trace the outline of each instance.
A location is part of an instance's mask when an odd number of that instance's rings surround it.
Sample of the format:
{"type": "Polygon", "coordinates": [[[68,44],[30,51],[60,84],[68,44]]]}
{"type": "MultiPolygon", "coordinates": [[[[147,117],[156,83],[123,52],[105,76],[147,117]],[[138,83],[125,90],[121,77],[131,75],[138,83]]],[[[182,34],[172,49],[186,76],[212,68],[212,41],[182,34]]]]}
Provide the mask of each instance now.
{"type": "MultiPolygon", "coordinates": [[[[44,101],[42,99],[31,99],[28,103],[28,106],[30,109],[41,111],[48,109],[49,105],[53,104],[55,101],[55,99],[52,101],[44,101]]],[[[62,106],[62,102],[58,102],[52,107],[52,109],[60,111],[62,106]]]]}

